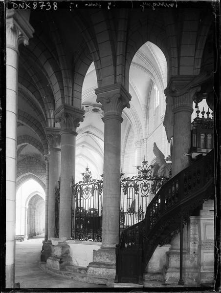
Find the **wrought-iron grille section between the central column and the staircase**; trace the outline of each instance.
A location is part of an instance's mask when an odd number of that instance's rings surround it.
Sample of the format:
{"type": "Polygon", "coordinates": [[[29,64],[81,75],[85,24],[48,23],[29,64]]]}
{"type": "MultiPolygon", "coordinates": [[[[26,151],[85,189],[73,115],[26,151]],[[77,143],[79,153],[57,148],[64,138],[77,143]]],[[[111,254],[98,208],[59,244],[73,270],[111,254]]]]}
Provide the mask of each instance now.
{"type": "Polygon", "coordinates": [[[153,166],[148,166],[145,159],[142,166],[136,168],[136,176],[123,178],[124,174],[121,174],[120,231],[144,219],[147,206],[159,188],[169,180],[169,177],[153,176],[153,166]]]}

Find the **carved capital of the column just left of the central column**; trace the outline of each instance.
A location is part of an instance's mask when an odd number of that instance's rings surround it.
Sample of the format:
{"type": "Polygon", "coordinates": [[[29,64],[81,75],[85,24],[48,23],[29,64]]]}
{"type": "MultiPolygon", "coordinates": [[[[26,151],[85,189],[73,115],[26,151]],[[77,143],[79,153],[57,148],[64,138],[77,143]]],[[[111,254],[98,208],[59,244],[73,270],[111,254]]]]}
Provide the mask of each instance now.
{"type": "Polygon", "coordinates": [[[79,122],[84,121],[85,111],[70,105],[61,105],[54,111],[55,122],[58,122],[61,126],[61,132],[71,131],[75,135],[79,122]]]}

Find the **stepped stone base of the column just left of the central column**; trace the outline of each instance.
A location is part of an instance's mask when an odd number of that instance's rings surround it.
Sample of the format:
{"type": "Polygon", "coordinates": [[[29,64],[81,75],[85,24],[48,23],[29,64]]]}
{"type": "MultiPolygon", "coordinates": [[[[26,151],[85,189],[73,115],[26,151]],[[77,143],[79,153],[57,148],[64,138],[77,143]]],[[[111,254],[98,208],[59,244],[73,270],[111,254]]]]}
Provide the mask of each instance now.
{"type": "Polygon", "coordinates": [[[58,245],[51,246],[51,256],[48,257],[46,268],[58,271],[66,270],[66,266],[72,265],[70,257],[70,247],[66,243],[59,242],[58,245]]]}

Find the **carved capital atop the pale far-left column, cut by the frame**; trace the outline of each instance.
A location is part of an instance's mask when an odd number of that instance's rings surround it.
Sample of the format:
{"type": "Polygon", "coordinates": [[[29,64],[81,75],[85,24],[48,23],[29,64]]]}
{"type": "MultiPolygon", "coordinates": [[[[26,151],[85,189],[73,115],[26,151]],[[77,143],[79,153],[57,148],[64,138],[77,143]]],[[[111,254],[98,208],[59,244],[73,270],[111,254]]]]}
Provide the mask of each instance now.
{"type": "Polygon", "coordinates": [[[6,44],[18,50],[19,44],[33,37],[34,29],[29,23],[29,10],[7,10],[6,15],[6,44]]]}

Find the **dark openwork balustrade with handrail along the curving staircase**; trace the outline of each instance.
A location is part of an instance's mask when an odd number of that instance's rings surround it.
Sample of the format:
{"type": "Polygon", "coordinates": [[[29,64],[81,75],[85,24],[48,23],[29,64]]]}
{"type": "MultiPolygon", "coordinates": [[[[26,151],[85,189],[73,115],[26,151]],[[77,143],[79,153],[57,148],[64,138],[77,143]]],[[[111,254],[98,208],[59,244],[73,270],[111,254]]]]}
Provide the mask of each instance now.
{"type": "Polygon", "coordinates": [[[117,247],[125,248],[125,240],[129,238],[131,242],[126,245],[127,248],[142,247],[143,237],[147,238],[160,218],[181,206],[203,186],[209,186],[213,181],[213,156],[214,151],[211,150],[167,181],[148,205],[144,220],[122,231],[117,247]],[[187,179],[191,182],[187,182],[187,179]]]}

